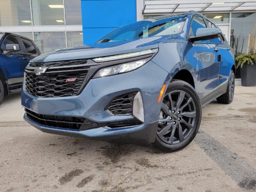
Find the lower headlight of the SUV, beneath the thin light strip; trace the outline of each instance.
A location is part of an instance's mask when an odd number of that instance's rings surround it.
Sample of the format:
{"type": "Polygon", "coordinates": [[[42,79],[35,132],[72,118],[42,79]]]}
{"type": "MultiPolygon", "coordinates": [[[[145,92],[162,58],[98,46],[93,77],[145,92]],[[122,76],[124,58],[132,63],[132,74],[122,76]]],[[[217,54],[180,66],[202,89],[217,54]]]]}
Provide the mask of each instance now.
{"type": "Polygon", "coordinates": [[[142,59],[142,60],[137,60],[137,61],[131,61],[128,63],[123,63],[119,65],[114,65],[110,67],[106,67],[103,69],[100,69],[95,75],[94,78],[98,77],[105,77],[105,76],[110,76],[110,75],[116,75],[119,73],[126,73],[132,70],[135,70],[142,65],[144,65],[146,62],[148,62],[148,58],[142,59]]]}

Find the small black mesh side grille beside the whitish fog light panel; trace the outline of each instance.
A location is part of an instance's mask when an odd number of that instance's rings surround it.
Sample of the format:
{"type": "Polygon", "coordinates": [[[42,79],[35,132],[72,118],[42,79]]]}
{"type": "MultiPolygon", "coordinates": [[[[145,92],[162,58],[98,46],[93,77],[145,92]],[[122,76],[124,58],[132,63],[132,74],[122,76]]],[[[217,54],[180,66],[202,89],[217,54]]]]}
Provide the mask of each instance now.
{"type": "Polygon", "coordinates": [[[132,92],[117,96],[108,104],[106,112],[111,115],[131,115],[133,110],[133,100],[138,92],[132,92]]]}

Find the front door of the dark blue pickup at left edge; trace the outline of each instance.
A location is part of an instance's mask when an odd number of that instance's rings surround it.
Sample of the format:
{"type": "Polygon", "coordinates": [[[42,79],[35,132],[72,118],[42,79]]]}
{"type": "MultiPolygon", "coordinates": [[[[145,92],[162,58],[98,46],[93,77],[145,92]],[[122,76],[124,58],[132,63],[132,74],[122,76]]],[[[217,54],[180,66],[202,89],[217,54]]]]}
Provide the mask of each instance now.
{"type": "Polygon", "coordinates": [[[4,68],[7,74],[8,86],[15,86],[22,83],[24,69],[28,62],[28,55],[25,53],[23,46],[16,36],[7,35],[1,44],[1,48],[3,50],[4,68]],[[18,52],[5,52],[6,44],[18,44],[20,50],[18,52]]]}

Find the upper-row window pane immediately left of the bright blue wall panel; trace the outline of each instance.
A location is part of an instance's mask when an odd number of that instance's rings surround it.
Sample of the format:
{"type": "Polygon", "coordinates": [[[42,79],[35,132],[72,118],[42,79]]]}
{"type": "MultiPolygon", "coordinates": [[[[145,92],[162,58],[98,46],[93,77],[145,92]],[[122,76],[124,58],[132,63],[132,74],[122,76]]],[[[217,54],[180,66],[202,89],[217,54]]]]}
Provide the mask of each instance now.
{"type": "Polygon", "coordinates": [[[82,25],[81,0],[65,0],[66,25],[82,25]]]}

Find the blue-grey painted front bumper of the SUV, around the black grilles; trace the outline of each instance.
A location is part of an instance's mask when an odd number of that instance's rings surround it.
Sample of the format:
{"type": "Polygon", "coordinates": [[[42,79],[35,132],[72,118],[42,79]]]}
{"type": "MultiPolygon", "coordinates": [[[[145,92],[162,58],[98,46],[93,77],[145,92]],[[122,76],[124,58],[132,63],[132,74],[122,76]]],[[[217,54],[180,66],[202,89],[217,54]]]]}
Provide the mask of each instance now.
{"type": "Polygon", "coordinates": [[[84,90],[77,96],[38,98],[22,89],[22,106],[45,115],[83,117],[88,120],[106,123],[131,120],[132,116],[112,116],[105,112],[108,103],[121,94],[140,91],[144,107],[142,125],[109,129],[105,127],[88,130],[72,130],[43,126],[26,115],[24,119],[43,132],[100,140],[139,141],[151,143],[156,136],[160,112],[158,96],[162,85],[168,81],[168,72],[154,62],[132,72],[91,79],[84,90]]]}

